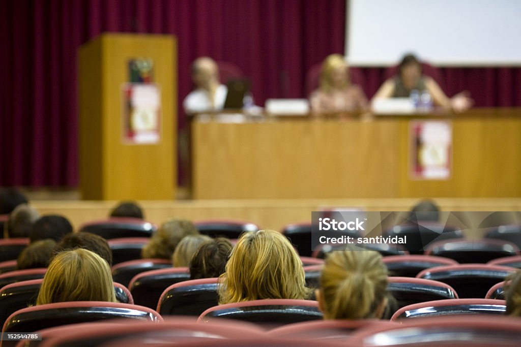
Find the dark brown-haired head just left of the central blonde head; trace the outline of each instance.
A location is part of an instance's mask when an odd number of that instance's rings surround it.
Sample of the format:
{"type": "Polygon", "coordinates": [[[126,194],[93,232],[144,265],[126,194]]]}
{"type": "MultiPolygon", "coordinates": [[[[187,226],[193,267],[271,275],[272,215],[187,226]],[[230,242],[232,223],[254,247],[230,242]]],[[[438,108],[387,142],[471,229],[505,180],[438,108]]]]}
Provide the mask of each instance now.
{"type": "Polygon", "coordinates": [[[230,240],[225,237],[203,243],[192,257],[190,279],[219,277],[224,274],[232,248],[230,240]]]}

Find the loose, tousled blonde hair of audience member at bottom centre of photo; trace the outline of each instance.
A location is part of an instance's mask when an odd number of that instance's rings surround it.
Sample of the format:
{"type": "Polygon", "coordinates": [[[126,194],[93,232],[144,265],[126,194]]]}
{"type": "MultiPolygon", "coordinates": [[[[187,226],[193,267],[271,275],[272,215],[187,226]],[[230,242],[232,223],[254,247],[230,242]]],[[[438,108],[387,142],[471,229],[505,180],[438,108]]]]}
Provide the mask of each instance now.
{"type": "Polygon", "coordinates": [[[305,299],[304,269],[288,239],[274,230],[242,234],[220,277],[219,303],[305,299]]]}

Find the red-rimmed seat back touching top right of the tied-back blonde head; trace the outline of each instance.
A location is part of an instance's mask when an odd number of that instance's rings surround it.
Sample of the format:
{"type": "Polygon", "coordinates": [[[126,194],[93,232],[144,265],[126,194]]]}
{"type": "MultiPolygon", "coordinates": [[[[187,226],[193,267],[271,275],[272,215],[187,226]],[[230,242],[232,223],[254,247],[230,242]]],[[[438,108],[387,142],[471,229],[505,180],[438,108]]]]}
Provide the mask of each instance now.
{"type": "Polygon", "coordinates": [[[416,277],[427,268],[458,264],[453,259],[423,254],[384,256],[383,263],[387,266],[389,276],[398,277],[416,277]]]}

